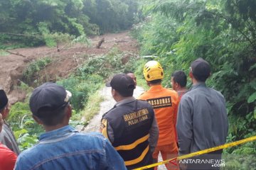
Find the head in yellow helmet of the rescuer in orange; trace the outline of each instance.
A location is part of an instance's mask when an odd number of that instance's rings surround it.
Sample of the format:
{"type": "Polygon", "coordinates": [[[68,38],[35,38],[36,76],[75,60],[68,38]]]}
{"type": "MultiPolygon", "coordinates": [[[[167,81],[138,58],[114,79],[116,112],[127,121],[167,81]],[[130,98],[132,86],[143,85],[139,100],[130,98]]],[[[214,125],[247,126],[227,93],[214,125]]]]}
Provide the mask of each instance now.
{"type": "Polygon", "coordinates": [[[143,75],[148,84],[161,84],[161,80],[164,78],[164,70],[159,62],[151,60],[144,65],[143,75]]]}

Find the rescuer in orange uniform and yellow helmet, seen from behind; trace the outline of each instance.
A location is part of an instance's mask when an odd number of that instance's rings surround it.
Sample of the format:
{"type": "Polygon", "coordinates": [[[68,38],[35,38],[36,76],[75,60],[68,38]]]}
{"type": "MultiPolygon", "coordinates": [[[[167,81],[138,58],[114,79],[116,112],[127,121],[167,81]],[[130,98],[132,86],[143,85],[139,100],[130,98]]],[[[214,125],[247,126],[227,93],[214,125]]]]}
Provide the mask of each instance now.
{"type": "MultiPolygon", "coordinates": [[[[178,147],[176,145],[176,120],[175,114],[178,108],[178,94],[176,91],[161,86],[164,78],[164,70],[156,61],[149,61],[143,69],[146,83],[150,86],[149,91],[144,92],[139,99],[148,101],[154,108],[156,120],[159,125],[159,140],[153,153],[154,161],[157,162],[159,152],[164,160],[176,157],[178,147]]],[[[178,169],[176,162],[166,164],[167,169],[178,169]]],[[[157,169],[157,166],[155,167],[157,169]]]]}

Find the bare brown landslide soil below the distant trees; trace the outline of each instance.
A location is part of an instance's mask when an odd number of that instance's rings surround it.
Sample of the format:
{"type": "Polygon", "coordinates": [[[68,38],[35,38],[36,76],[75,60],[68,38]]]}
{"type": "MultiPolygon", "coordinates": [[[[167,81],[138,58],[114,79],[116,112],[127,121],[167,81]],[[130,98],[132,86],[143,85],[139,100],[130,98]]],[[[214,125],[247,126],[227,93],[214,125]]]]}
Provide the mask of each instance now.
{"type": "MultiPolygon", "coordinates": [[[[102,55],[109,52],[112,47],[117,47],[127,54],[137,54],[137,41],[132,39],[128,32],[110,33],[91,38],[91,45],[60,46],[60,52],[55,47],[30,47],[10,50],[18,55],[1,55],[0,65],[0,86],[6,91],[11,103],[22,101],[26,98],[26,93],[16,88],[22,79],[22,72],[29,62],[41,57],[52,57],[53,62],[48,64],[38,75],[42,81],[55,81],[58,77],[65,78],[73,72],[79,64],[88,56],[102,55]],[[105,42],[97,49],[95,46],[102,39],[105,42]],[[21,56],[22,55],[22,56],[21,56]]],[[[38,78],[38,77],[35,77],[38,78]]]]}

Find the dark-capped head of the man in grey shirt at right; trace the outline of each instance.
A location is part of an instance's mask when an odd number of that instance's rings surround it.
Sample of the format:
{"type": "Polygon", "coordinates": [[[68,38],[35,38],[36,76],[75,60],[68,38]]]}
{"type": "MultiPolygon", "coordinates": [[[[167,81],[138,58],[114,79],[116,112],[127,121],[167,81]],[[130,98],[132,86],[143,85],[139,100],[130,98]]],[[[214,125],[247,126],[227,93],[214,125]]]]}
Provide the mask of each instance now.
{"type": "Polygon", "coordinates": [[[198,58],[191,63],[189,75],[192,79],[196,79],[196,81],[205,82],[210,77],[210,64],[206,60],[198,58]]]}

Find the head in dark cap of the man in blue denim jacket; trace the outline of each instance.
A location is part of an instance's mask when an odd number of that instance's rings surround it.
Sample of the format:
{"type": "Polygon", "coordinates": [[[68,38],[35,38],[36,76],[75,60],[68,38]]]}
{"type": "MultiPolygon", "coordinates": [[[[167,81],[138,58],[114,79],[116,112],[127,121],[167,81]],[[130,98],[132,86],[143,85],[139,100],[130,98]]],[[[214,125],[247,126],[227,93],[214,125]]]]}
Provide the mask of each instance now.
{"type": "Polygon", "coordinates": [[[33,118],[45,126],[55,126],[69,120],[71,96],[71,93],[66,91],[63,86],[55,83],[45,83],[38,86],[29,100],[33,118]]]}

